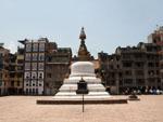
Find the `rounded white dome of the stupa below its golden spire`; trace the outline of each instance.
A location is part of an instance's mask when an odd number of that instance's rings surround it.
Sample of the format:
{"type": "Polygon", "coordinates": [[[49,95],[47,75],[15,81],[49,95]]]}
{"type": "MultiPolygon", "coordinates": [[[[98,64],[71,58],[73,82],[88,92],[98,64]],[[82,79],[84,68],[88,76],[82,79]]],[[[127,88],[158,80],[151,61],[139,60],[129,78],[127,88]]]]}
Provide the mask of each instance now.
{"type": "Polygon", "coordinates": [[[95,77],[95,67],[90,62],[76,62],[71,66],[70,77],[95,77]]]}

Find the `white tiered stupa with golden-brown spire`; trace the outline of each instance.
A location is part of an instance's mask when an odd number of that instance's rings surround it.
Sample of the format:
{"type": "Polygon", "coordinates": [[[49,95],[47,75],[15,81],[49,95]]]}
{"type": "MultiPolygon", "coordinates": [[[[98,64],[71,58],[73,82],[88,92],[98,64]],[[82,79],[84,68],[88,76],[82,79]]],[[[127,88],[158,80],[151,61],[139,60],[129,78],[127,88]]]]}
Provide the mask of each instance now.
{"type": "Polygon", "coordinates": [[[64,80],[63,85],[55,94],[55,100],[77,100],[82,95],[76,94],[77,82],[83,78],[87,82],[89,93],[85,95],[85,100],[102,100],[110,97],[105,92],[105,87],[101,84],[101,79],[96,77],[95,66],[90,59],[90,54],[85,45],[86,35],[84,28],[82,29],[79,38],[82,43],[78,51],[78,60],[72,64],[71,74],[64,80]]]}

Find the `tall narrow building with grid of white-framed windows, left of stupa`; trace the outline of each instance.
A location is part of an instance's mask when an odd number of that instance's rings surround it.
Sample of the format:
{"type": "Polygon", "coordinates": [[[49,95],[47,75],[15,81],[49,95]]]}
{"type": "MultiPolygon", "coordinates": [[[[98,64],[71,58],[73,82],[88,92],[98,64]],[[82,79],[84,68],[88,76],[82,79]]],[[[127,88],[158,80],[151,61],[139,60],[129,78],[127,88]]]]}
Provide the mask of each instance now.
{"type": "Polygon", "coordinates": [[[45,86],[45,55],[47,38],[37,41],[25,39],[22,41],[24,52],[24,93],[43,94],[45,86]]]}

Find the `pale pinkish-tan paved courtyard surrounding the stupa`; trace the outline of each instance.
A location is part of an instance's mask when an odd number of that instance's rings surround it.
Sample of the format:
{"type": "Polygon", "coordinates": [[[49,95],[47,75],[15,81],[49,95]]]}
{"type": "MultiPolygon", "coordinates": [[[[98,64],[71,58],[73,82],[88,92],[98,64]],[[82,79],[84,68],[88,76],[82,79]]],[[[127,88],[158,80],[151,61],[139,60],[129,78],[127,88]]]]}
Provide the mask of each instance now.
{"type": "Polygon", "coordinates": [[[0,122],[163,122],[163,95],[139,97],[122,105],[86,105],[83,113],[80,105],[36,105],[51,96],[4,96],[0,122]]]}

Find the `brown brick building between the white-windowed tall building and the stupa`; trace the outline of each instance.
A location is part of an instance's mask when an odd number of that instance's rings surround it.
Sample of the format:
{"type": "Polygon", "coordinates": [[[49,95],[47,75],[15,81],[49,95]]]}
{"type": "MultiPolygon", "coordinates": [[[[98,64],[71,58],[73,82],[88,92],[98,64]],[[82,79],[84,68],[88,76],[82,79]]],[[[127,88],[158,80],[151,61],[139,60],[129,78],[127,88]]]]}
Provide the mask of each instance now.
{"type": "Polygon", "coordinates": [[[71,60],[71,48],[55,46],[55,50],[48,52],[46,57],[46,94],[54,95],[58,92],[63,80],[70,74],[71,60]]]}

